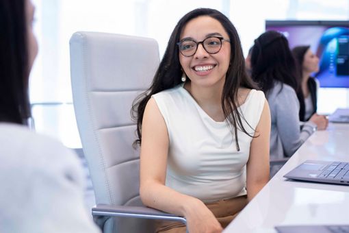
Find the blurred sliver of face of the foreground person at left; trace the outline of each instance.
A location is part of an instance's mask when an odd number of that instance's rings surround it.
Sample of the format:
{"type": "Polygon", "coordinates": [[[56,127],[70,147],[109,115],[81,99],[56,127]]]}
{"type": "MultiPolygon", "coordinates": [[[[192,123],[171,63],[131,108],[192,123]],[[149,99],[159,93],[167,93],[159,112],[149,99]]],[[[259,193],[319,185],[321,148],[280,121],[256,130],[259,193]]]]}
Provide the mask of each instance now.
{"type": "Polygon", "coordinates": [[[31,66],[33,66],[34,60],[38,55],[38,42],[33,32],[34,12],[35,8],[33,3],[31,3],[30,0],[25,0],[25,19],[27,24],[29,71],[31,70],[31,66]]]}

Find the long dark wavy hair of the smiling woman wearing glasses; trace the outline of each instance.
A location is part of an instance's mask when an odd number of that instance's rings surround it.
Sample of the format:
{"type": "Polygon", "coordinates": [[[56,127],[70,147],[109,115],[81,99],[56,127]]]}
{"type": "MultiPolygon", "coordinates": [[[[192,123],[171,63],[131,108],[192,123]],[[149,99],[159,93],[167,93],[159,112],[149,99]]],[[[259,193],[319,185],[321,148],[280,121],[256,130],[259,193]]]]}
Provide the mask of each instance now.
{"type": "MultiPolygon", "coordinates": [[[[179,63],[179,47],[177,42],[179,42],[183,27],[190,20],[195,19],[198,16],[210,16],[219,21],[229,35],[231,41],[230,66],[224,82],[221,103],[225,119],[228,120],[231,132],[233,136],[235,136],[237,149],[240,150],[239,143],[237,141],[237,127],[239,127],[242,132],[248,134],[249,136],[253,136],[250,135],[251,133],[248,133],[242,125],[242,119],[244,119],[244,116],[242,116],[240,112],[234,111],[238,107],[238,88],[257,88],[257,85],[255,85],[253,80],[250,79],[246,73],[244,56],[237,31],[227,16],[224,16],[224,14],[218,10],[198,8],[196,10],[192,10],[188,14],[185,14],[185,16],[179,20],[176,27],[174,27],[170,40],[168,41],[164,57],[162,58],[159,68],[155,73],[151,87],[148,88],[144,94],[140,95],[137,99],[135,99],[135,101],[133,101],[131,111],[133,119],[137,121],[138,133],[138,140],[135,140],[135,143],[140,144],[142,142],[142,119],[146,103],[151,96],[161,92],[162,90],[167,90],[181,84],[181,75],[183,71],[181,70],[181,64],[179,63]]],[[[190,82],[190,80],[187,79],[186,82],[190,82]]]]}

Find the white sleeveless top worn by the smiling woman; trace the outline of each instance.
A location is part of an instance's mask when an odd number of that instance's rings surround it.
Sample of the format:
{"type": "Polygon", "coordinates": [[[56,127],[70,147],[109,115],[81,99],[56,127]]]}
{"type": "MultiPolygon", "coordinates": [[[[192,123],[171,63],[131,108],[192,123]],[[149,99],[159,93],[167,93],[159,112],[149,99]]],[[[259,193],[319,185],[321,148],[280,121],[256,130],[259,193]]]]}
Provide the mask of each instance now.
{"type": "MultiPolygon", "coordinates": [[[[226,121],[204,112],[183,84],[153,95],[168,137],[166,186],[204,202],[246,195],[246,162],[252,137],[237,131],[240,151],[226,121]]],[[[265,97],[251,90],[240,106],[245,130],[254,135],[265,97]],[[252,128],[251,128],[252,127],[252,128]]]]}

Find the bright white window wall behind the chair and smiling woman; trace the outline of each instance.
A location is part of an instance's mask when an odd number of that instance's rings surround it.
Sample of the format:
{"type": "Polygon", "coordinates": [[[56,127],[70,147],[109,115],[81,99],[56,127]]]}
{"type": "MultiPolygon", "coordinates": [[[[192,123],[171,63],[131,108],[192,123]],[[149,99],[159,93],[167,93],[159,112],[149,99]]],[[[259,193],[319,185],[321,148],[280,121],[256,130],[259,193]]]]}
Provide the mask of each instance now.
{"type": "MultiPolygon", "coordinates": [[[[207,7],[229,16],[246,53],[253,40],[264,31],[266,19],[349,19],[349,0],[32,1],[36,5],[34,29],[39,42],[39,54],[30,78],[36,130],[59,138],[68,147],[81,147],[70,89],[69,38],[74,32],[155,38],[162,56],[181,16],[194,8],[207,7]]],[[[337,99],[337,91],[320,94],[320,99],[330,99],[330,94],[337,99]]],[[[348,107],[348,90],[338,95],[344,99],[340,104],[348,107]]],[[[325,106],[324,111],[327,108],[325,106]]]]}

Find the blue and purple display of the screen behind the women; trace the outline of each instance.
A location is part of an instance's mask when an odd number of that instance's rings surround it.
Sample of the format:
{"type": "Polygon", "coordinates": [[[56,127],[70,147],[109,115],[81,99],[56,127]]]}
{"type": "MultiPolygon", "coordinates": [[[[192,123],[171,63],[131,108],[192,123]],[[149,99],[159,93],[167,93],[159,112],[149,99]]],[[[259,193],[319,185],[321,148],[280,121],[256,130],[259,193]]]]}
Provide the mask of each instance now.
{"type": "Polygon", "coordinates": [[[313,76],[321,87],[349,88],[349,22],[348,27],[267,23],[266,30],[283,33],[291,49],[298,45],[311,46],[320,59],[320,69],[313,76]]]}

